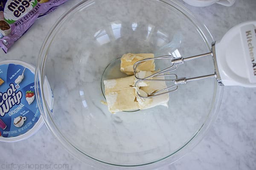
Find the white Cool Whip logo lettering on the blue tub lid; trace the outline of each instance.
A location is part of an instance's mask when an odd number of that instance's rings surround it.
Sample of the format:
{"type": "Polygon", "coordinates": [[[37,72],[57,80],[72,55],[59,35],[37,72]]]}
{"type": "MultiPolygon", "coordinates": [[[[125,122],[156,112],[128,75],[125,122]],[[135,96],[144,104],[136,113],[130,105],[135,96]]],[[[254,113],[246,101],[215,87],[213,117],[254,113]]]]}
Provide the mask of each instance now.
{"type": "Polygon", "coordinates": [[[14,105],[19,105],[20,99],[22,98],[21,91],[17,91],[13,83],[9,86],[10,88],[6,92],[0,92],[0,116],[8,113],[14,105]]]}

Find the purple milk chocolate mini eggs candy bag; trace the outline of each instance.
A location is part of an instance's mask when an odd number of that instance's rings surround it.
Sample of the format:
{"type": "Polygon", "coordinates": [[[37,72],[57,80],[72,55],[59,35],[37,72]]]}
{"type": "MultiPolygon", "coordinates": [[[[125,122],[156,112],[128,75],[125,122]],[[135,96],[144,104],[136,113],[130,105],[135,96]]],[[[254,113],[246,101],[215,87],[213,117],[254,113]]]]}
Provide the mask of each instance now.
{"type": "Polygon", "coordinates": [[[0,0],[0,46],[4,52],[18,40],[38,17],[67,0],[0,0]]]}

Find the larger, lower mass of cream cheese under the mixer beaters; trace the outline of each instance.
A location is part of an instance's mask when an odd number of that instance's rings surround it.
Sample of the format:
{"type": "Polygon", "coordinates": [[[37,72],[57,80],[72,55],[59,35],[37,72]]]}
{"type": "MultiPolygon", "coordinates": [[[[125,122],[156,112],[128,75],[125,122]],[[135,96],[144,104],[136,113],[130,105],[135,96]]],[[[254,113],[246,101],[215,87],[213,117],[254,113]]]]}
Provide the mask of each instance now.
{"type": "MultiPolygon", "coordinates": [[[[152,71],[140,71],[140,76],[149,76],[154,74],[152,71]]],[[[158,79],[157,77],[151,79],[158,79]]],[[[154,96],[143,99],[137,95],[148,96],[154,91],[166,88],[165,82],[140,82],[134,87],[136,79],[134,76],[129,76],[119,79],[109,79],[104,81],[105,97],[108,104],[108,110],[111,113],[119,111],[130,111],[136,109],[147,109],[157,105],[168,107],[169,94],[154,96]]]]}

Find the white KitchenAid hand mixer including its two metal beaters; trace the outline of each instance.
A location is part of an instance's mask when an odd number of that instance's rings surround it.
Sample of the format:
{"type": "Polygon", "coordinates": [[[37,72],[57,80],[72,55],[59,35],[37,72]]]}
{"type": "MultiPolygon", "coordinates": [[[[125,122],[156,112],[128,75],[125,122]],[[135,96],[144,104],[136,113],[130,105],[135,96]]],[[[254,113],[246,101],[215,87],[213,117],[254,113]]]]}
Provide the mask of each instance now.
{"type": "Polygon", "coordinates": [[[134,76],[138,82],[142,81],[168,81],[172,82],[167,88],[155,91],[148,96],[138,96],[141,98],[149,98],[159,96],[178,89],[178,85],[186,84],[187,82],[215,78],[219,85],[239,85],[243,87],[256,87],[256,21],[248,21],[241,23],[231,28],[221,41],[212,42],[212,50],[206,54],[200,54],[192,57],[172,57],[172,55],[165,55],[154,58],[146,58],[135,62],[133,65],[134,76]],[[170,72],[177,69],[177,65],[183,64],[192,59],[198,59],[205,56],[212,56],[215,72],[213,74],[186,78],[178,78],[176,74],[170,72]],[[171,65],[157,73],[148,77],[139,77],[137,74],[137,67],[145,61],[152,59],[170,59],[171,65]],[[166,79],[152,79],[153,77],[169,77],[166,79]]]}

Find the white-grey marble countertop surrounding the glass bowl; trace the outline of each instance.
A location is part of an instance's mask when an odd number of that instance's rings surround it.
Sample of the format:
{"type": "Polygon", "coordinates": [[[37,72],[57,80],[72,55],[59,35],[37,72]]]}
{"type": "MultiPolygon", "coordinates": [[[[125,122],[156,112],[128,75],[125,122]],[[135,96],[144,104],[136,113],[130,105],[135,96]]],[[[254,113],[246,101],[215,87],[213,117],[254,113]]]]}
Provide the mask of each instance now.
{"type": "MultiPolygon", "coordinates": [[[[36,65],[41,43],[51,26],[61,14],[80,1],[69,0],[54,12],[37,20],[15,42],[8,54],[0,51],[0,60],[19,59],[36,65]]],[[[180,3],[183,1],[180,0],[180,3]]],[[[199,8],[183,4],[209,28],[215,40],[220,40],[236,24],[256,20],[255,0],[237,0],[231,7],[214,4],[199,8]]],[[[157,170],[255,170],[255,101],[256,88],[224,87],[218,117],[204,139],[182,159],[157,170]]],[[[96,170],[68,153],[45,125],[29,139],[15,143],[1,142],[0,150],[0,169],[3,170],[10,169],[7,168],[9,164],[60,164],[58,169],[61,170],[96,170]],[[63,164],[68,166],[61,166],[63,164]]]]}

